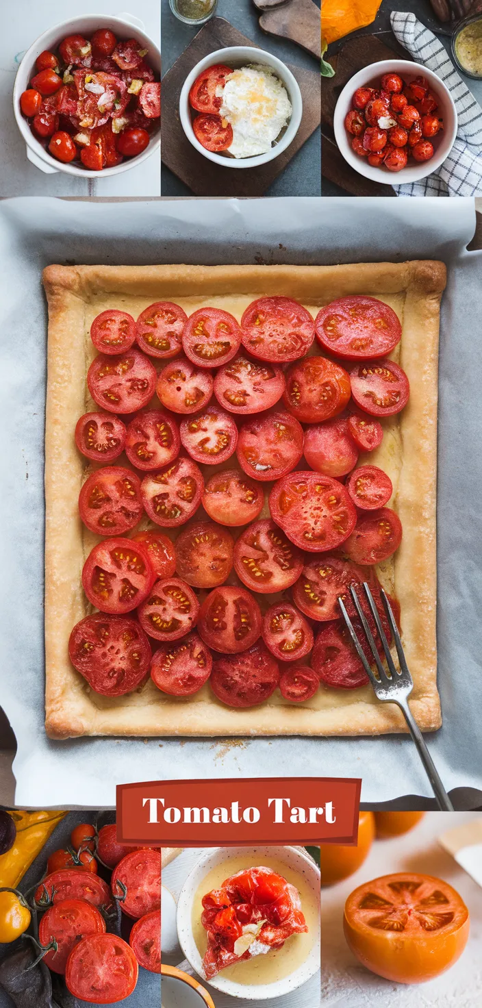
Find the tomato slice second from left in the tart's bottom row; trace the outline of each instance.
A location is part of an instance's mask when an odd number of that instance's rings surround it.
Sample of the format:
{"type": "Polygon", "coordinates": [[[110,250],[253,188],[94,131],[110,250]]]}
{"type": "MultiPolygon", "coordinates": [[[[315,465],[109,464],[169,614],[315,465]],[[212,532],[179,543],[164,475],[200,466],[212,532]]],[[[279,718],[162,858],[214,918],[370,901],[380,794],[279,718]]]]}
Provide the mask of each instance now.
{"type": "Polygon", "coordinates": [[[211,651],[197,633],[178,643],[161,644],[154,651],[150,676],[158,689],[171,697],[191,697],[208,681],[213,667],[211,651]]]}

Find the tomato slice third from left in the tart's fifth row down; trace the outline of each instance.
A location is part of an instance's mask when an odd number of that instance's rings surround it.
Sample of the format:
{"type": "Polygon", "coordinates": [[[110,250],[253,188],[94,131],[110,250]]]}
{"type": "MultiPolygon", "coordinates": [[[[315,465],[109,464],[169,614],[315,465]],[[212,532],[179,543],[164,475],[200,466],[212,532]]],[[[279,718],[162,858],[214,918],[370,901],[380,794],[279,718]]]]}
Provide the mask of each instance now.
{"type": "Polygon", "coordinates": [[[217,588],[233,566],[233,537],[214,521],[183,529],[175,540],[176,571],[194,588],[217,588]]]}

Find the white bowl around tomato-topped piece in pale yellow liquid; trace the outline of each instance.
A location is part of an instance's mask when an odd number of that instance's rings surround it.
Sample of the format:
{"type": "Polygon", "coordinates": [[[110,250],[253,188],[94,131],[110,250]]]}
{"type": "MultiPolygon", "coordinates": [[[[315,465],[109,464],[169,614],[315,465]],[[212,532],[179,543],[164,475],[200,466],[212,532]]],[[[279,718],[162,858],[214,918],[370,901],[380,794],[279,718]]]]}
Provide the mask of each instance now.
{"type": "MultiPolygon", "coordinates": [[[[192,925],[193,904],[196,893],[203,879],[206,878],[213,868],[223,864],[225,861],[228,862],[232,858],[245,856],[246,853],[252,854],[253,865],[262,865],[263,858],[276,858],[277,861],[286,865],[287,868],[304,875],[310,885],[313,886],[315,892],[320,892],[320,870],[309,854],[300,848],[253,847],[247,849],[245,847],[234,847],[228,849],[217,847],[208,851],[198,861],[186,879],[177,900],[177,935],[179,944],[186,959],[201,977],[203,976],[202,959],[193,935],[192,925]]],[[[308,959],[293,973],[282,980],[276,980],[272,984],[237,984],[232,980],[227,980],[221,972],[213,980],[210,980],[209,983],[218,991],[223,991],[233,998],[244,998],[247,1001],[256,1002],[267,1001],[270,998],[281,997],[283,994],[289,994],[291,991],[297,990],[311,977],[315,976],[319,969],[320,937],[318,936],[317,938],[315,936],[315,941],[308,959]]]]}

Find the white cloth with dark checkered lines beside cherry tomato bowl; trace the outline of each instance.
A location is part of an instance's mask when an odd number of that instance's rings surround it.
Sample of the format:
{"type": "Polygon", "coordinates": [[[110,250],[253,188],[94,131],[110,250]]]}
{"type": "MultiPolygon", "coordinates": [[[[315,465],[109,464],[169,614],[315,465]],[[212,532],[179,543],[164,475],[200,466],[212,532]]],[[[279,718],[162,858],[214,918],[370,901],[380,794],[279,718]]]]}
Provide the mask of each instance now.
{"type": "Polygon", "coordinates": [[[454,146],[432,175],[395,185],[398,196],[482,196],[482,108],[454,68],[442,42],[414,14],[393,11],[393,32],[413,59],[449,89],[459,120],[454,146]]]}

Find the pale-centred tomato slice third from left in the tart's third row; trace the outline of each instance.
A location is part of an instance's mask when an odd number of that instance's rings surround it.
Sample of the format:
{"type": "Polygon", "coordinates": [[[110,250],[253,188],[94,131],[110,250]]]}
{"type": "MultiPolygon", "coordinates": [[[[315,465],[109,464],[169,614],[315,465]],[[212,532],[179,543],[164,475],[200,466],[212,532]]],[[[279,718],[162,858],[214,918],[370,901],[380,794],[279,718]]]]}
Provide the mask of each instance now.
{"type": "Polygon", "coordinates": [[[183,447],[195,462],[216,466],[228,459],[236,451],[238,428],[220,406],[208,406],[196,416],[180,421],[183,447]]]}

